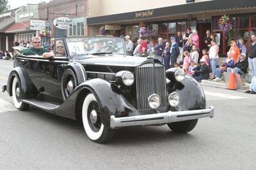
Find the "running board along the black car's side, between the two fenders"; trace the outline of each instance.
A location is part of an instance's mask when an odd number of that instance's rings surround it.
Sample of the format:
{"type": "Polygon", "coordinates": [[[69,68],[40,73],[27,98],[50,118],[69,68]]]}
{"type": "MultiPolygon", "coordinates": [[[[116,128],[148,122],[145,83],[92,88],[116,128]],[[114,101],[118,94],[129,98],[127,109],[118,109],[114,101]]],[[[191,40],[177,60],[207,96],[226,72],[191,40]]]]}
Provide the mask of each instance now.
{"type": "Polygon", "coordinates": [[[33,105],[36,108],[40,108],[42,110],[47,110],[47,111],[53,111],[60,107],[60,105],[48,103],[45,101],[37,101],[36,99],[24,99],[22,100],[22,102],[33,105]]]}

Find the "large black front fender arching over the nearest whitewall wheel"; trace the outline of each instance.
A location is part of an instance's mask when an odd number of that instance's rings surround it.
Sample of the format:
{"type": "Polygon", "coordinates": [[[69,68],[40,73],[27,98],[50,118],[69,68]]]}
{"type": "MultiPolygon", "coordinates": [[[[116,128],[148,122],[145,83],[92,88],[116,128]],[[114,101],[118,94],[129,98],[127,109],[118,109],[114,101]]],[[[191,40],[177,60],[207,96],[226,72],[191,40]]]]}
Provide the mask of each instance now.
{"type": "Polygon", "coordinates": [[[102,124],[110,127],[110,116],[124,117],[128,115],[140,115],[140,113],[122,94],[113,92],[111,83],[100,78],[87,80],[81,83],[72,92],[68,99],[56,110],[56,115],[61,117],[81,119],[83,101],[87,94],[93,93],[100,108],[102,124]]]}

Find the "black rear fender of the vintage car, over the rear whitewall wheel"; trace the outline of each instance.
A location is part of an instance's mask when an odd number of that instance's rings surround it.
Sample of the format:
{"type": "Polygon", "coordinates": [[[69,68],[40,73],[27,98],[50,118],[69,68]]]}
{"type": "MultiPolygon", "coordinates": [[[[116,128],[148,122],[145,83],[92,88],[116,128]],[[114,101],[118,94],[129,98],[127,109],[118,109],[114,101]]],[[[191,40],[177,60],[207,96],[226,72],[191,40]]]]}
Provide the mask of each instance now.
{"type": "Polygon", "coordinates": [[[33,99],[35,96],[39,94],[38,90],[36,89],[35,85],[31,81],[29,75],[22,67],[15,67],[12,69],[8,76],[7,81],[7,92],[10,96],[12,96],[12,82],[14,76],[19,78],[20,82],[20,89],[21,89],[21,99],[33,99]]]}

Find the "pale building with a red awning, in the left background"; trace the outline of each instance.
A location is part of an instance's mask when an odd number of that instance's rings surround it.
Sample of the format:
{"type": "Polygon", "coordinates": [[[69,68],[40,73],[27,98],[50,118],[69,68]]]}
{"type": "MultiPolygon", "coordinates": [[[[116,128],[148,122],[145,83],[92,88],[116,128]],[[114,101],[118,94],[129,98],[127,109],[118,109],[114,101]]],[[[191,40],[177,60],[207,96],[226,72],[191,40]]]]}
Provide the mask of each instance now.
{"type": "Polygon", "coordinates": [[[15,24],[6,29],[6,33],[15,34],[15,41],[30,41],[36,31],[30,29],[30,20],[38,18],[38,5],[27,4],[15,11],[15,24]]]}

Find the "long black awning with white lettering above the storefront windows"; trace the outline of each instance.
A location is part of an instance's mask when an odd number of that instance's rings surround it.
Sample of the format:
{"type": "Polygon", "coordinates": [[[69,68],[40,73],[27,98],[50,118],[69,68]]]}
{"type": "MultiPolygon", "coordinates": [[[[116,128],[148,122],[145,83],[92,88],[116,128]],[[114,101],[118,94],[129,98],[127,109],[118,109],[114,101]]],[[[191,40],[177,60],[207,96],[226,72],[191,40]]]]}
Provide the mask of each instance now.
{"type": "Polygon", "coordinates": [[[113,24],[118,22],[132,22],[140,20],[152,20],[166,18],[177,15],[189,15],[196,13],[207,13],[212,11],[242,10],[256,8],[255,0],[214,0],[198,3],[181,4],[177,6],[167,6],[143,11],[132,11],[115,15],[105,15],[100,17],[87,18],[88,25],[113,24]]]}

